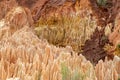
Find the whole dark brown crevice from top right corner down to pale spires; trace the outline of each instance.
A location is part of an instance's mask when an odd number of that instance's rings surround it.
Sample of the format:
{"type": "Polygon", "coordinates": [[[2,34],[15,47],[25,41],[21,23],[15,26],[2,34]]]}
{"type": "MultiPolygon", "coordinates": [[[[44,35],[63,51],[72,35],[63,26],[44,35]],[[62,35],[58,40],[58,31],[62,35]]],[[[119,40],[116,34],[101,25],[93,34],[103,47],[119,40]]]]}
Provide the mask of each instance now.
{"type": "Polygon", "coordinates": [[[90,0],[93,14],[98,18],[98,25],[102,26],[102,29],[99,31],[97,28],[91,36],[90,40],[85,42],[83,47],[83,55],[86,59],[90,60],[94,65],[98,63],[100,59],[104,60],[107,56],[109,59],[113,59],[113,54],[107,54],[103,49],[105,44],[109,44],[108,37],[105,36],[104,29],[105,26],[109,23],[112,23],[111,30],[113,31],[115,26],[115,19],[119,11],[118,9],[118,0],[110,1],[106,4],[107,7],[100,7],[97,5],[95,0],[90,0]],[[110,5],[110,6],[108,6],[110,5]],[[104,18],[105,20],[102,20],[104,18]]]}

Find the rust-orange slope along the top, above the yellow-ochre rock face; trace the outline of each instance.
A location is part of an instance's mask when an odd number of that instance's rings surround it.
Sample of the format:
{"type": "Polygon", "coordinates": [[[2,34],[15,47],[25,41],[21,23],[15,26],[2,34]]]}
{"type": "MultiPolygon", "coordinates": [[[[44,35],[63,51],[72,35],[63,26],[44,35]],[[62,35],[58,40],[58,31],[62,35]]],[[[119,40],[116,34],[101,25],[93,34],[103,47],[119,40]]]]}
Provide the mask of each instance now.
{"type": "Polygon", "coordinates": [[[89,0],[4,0],[1,1],[1,18],[13,7],[19,5],[31,10],[35,21],[39,18],[78,14],[80,9],[91,9],[89,0]]]}

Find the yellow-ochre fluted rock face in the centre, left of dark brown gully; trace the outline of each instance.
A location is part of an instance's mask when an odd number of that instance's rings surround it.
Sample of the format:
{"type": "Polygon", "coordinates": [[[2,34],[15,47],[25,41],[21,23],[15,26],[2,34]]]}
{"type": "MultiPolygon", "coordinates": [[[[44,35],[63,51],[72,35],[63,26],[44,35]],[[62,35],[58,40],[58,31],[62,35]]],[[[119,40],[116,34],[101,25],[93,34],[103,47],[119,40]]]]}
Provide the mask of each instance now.
{"type": "Polygon", "coordinates": [[[82,17],[82,13],[69,16],[53,16],[41,18],[36,24],[35,31],[40,38],[45,38],[56,46],[72,46],[76,52],[81,52],[81,45],[90,38],[97,27],[95,19],[92,19],[89,11],[82,17]]]}

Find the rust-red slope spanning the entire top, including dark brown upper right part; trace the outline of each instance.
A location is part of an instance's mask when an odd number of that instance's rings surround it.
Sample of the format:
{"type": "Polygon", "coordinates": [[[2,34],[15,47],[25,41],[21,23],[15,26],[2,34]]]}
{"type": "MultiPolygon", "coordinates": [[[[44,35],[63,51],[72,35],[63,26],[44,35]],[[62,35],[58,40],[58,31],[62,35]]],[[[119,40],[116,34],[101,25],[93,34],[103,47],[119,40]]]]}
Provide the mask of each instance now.
{"type": "Polygon", "coordinates": [[[78,14],[79,10],[87,9],[92,11],[91,16],[96,17],[98,25],[106,26],[108,23],[114,24],[119,12],[119,0],[107,0],[105,5],[101,5],[97,0],[3,0],[0,3],[0,19],[12,7],[20,5],[31,10],[35,22],[41,17],[78,14]]]}

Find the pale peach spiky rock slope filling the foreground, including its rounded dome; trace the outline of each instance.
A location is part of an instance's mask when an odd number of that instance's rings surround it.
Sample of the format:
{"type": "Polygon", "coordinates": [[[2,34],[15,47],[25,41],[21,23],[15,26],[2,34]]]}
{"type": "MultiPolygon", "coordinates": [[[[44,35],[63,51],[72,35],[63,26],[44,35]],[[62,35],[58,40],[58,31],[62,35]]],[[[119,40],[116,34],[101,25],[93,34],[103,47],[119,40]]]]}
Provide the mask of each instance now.
{"type": "Polygon", "coordinates": [[[29,15],[25,8],[15,7],[0,20],[1,80],[118,80],[119,57],[93,66],[71,47],[60,48],[39,39],[29,15]]]}

